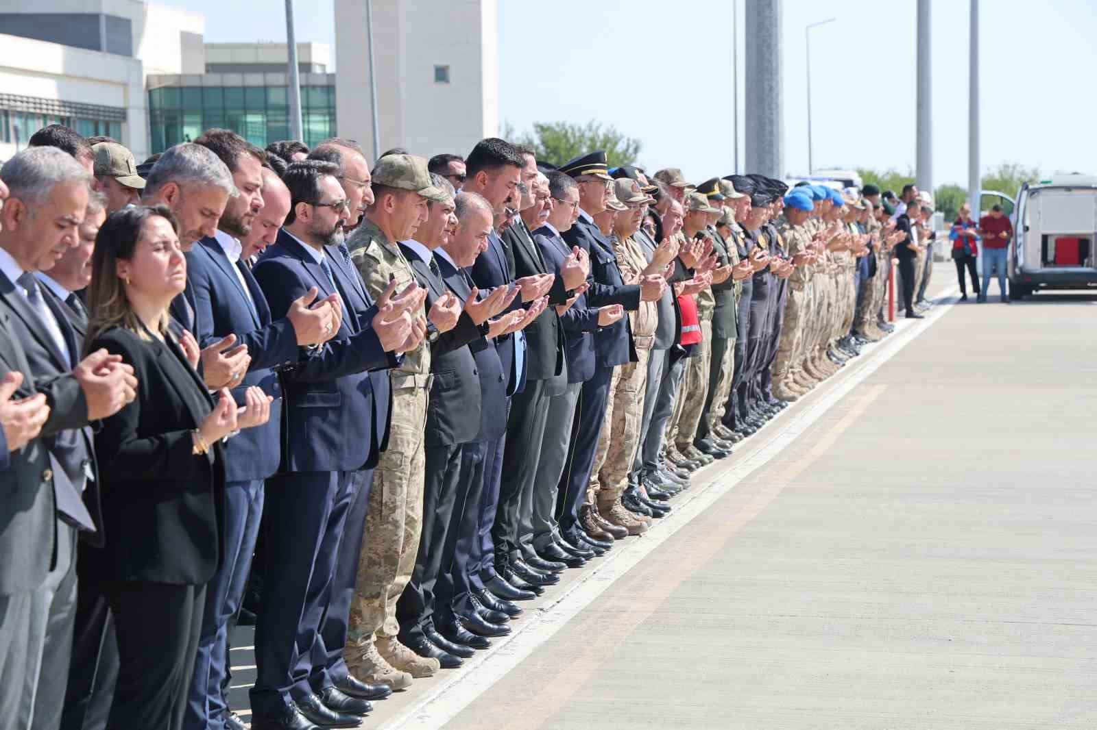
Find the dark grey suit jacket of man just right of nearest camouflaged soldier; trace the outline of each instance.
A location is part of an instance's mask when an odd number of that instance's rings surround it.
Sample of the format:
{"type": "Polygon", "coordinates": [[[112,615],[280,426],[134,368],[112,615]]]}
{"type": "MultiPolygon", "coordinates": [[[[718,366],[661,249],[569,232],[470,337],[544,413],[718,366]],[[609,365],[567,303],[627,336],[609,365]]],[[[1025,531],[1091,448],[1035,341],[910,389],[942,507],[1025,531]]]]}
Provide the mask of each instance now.
{"type": "MultiPolygon", "coordinates": [[[[445,283],[434,276],[415,250],[403,243],[398,246],[411,264],[419,285],[427,289],[429,310],[446,293],[445,283]]],[[[431,344],[430,370],[434,383],[427,400],[425,446],[453,446],[476,438],[480,408],[479,377],[476,358],[466,345],[480,337],[480,328],[462,312],[456,326],[439,334],[431,344]]]]}

